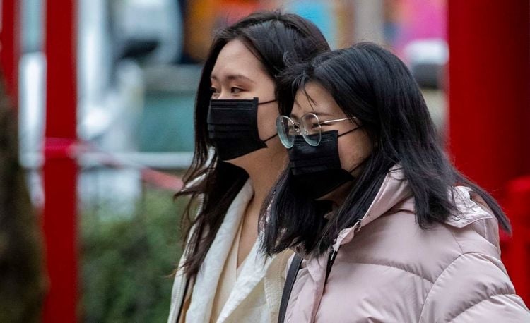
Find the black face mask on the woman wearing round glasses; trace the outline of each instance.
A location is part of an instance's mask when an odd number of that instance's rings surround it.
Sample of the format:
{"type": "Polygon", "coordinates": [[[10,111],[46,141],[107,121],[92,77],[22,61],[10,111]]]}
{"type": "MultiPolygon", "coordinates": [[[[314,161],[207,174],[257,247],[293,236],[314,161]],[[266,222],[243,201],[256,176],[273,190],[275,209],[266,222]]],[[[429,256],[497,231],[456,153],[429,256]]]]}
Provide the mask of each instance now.
{"type": "Polygon", "coordinates": [[[309,145],[302,135],[295,136],[294,145],[289,149],[289,167],[296,190],[317,200],[354,180],[351,172],[358,167],[352,171],[341,168],[341,159],[338,157],[338,137],[341,135],[338,135],[337,130],[324,131],[318,146],[309,145]]]}

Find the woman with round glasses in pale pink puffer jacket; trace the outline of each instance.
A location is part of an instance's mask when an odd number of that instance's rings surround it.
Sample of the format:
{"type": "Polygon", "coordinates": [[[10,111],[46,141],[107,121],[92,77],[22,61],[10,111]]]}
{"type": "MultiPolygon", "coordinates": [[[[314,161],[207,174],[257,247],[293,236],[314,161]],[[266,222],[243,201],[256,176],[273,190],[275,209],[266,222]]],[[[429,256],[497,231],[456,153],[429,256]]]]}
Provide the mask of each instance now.
{"type": "Polygon", "coordinates": [[[530,322],[500,260],[508,219],[449,162],[396,56],[356,44],[281,84],[289,165],[261,217],[267,254],[296,251],[281,322],[530,322]]]}

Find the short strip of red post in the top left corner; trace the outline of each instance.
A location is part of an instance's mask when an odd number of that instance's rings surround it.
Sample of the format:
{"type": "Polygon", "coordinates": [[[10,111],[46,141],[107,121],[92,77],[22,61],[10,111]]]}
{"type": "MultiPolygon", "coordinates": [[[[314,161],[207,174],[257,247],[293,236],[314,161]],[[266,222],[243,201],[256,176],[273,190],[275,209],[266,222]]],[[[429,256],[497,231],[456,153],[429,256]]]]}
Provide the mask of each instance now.
{"type": "Polygon", "coordinates": [[[20,58],[20,1],[3,0],[1,6],[0,63],[6,90],[18,106],[18,59],[20,58]]]}

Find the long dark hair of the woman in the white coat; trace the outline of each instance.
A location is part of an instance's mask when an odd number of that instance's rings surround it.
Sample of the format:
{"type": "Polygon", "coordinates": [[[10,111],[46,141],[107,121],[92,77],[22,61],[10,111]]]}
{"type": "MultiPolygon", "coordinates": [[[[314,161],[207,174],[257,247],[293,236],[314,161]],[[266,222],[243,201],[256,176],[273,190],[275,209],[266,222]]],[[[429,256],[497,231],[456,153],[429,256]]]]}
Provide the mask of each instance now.
{"type": "Polygon", "coordinates": [[[329,51],[329,45],[317,26],[292,13],[253,13],[217,32],[196,95],[192,165],[184,175],[184,189],[175,195],[175,198],[190,197],[181,221],[184,242],[188,241],[184,251],[184,272],[188,277],[199,271],[228,207],[248,178],[240,167],[221,161],[215,152],[212,156],[213,143],[208,139],[206,128],[211,71],[221,49],[233,39],[242,41],[275,81],[287,62],[305,61],[319,52],[329,51]],[[194,217],[192,209],[196,202],[201,206],[194,217]]]}

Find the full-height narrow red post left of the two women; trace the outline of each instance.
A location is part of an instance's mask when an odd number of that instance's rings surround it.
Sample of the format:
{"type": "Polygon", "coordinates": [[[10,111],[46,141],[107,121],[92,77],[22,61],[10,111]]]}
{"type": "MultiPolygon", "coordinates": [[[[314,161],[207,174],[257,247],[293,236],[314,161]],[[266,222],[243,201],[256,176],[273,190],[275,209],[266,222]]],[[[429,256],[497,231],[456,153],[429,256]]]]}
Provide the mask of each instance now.
{"type": "Polygon", "coordinates": [[[76,322],[78,300],[76,1],[46,3],[44,233],[49,294],[44,322],[76,322]]]}

